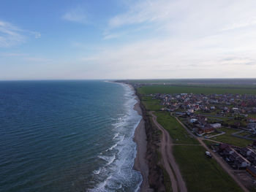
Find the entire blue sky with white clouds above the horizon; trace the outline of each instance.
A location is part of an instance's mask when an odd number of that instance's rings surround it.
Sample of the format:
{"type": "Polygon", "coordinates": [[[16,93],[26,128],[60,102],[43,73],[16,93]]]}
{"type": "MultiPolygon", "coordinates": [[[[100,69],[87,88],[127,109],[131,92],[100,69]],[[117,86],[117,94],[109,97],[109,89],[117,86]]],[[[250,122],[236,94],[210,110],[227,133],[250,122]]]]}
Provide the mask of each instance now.
{"type": "Polygon", "coordinates": [[[0,80],[256,78],[255,0],[1,0],[0,80]]]}

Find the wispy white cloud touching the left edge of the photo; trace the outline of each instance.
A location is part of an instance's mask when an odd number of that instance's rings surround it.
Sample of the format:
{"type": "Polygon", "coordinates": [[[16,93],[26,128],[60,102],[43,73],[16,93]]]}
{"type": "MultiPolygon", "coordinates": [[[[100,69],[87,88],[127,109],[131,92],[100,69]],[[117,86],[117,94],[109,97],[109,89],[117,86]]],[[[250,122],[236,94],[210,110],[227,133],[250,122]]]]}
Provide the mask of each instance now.
{"type": "Polygon", "coordinates": [[[12,23],[0,20],[0,47],[12,47],[26,42],[29,35],[33,34],[37,39],[41,36],[39,32],[27,31],[14,26],[12,23]]]}

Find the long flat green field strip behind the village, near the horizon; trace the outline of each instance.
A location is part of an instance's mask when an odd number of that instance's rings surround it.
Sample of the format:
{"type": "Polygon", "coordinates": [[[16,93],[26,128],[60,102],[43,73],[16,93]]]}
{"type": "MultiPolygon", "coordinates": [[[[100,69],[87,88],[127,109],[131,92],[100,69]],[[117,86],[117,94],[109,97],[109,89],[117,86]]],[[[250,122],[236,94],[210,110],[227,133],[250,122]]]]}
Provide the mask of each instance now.
{"type": "Polygon", "coordinates": [[[176,86],[176,85],[150,85],[138,88],[141,94],[150,93],[205,93],[205,94],[223,94],[223,93],[238,93],[238,94],[256,94],[256,88],[222,88],[222,87],[200,87],[200,86],[176,86]]]}

